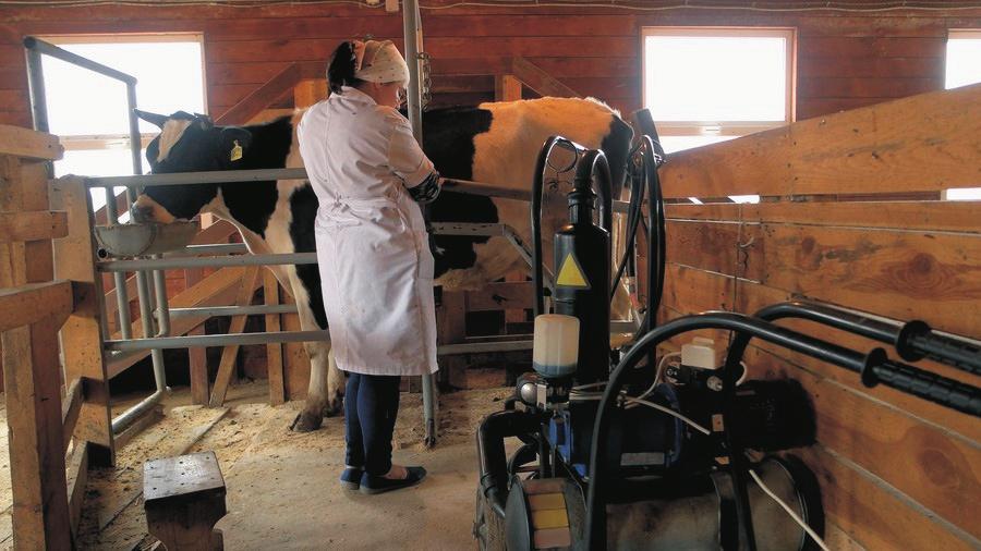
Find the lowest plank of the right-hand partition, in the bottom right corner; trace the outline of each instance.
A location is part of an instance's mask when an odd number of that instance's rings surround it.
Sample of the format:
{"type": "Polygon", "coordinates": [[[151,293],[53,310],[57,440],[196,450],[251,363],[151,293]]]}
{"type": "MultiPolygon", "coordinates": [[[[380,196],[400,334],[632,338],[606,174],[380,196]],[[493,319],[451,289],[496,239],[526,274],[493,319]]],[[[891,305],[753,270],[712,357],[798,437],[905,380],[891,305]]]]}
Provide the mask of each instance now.
{"type": "MultiPolygon", "coordinates": [[[[870,550],[977,549],[887,483],[821,446],[795,450],[818,476],[828,521],[870,550]]],[[[834,548],[833,548],[834,549],[834,548]]]]}

